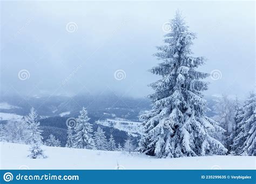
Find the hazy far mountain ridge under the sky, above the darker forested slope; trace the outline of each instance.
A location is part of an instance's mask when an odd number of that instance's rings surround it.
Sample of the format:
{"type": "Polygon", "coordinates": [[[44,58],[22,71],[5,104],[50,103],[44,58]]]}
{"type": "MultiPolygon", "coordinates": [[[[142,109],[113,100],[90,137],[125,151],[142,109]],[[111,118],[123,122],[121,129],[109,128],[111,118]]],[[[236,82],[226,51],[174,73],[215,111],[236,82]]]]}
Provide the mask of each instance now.
{"type": "MultiPolygon", "coordinates": [[[[213,109],[219,96],[206,96],[208,108],[213,109]]],[[[150,110],[149,98],[132,98],[118,96],[114,93],[103,95],[76,95],[76,96],[42,96],[21,97],[2,96],[0,99],[0,112],[26,116],[33,107],[42,117],[77,117],[82,107],[85,107],[89,115],[99,119],[125,117],[130,121],[138,121],[141,111],[150,110]],[[9,108],[3,106],[8,104],[9,108]]],[[[208,111],[207,116],[213,116],[213,111],[208,111]]],[[[98,120],[98,119],[97,119],[98,120]]]]}

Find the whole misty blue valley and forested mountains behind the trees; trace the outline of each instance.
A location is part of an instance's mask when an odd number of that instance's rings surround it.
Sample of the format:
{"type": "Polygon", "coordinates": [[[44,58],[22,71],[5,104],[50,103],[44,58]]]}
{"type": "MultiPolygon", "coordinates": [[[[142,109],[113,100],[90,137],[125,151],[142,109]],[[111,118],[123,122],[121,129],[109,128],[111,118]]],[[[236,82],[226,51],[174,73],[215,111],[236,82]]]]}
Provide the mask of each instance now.
{"type": "MultiPolygon", "coordinates": [[[[219,97],[207,96],[205,98],[208,108],[213,109],[219,97]]],[[[135,125],[133,124],[135,123],[137,126],[141,123],[138,118],[139,114],[150,110],[152,106],[148,98],[122,97],[115,94],[98,96],[86,94],[73,97],[4,96],[0,101],[0,123],[22,121],[23,116],[29,114],[31,107],[37,110],[44,139],[48,139],[50,134],[55,135],[64,146],[66,143],[66,120],[69,117],[78,117],[82,107],[87,109],[89,122],[94,131],[100,126],[105,131],[107,138],[112,134],[118,143],[123,144],[124,139],[127,138],[126,133],[134,129],[135,125]],[[129,123],[131,123],[130,126],[129,123]],[[122,124],[125,126],[120,127],[122,124]]],[[[209,117],[214,115],[214,111],[207,112],[209,117]]],[[[140,129],[138,128],[138,130],[140,129]]],[[[134,140],[138,139],[139,136],[134,137],[134,140]]]]}

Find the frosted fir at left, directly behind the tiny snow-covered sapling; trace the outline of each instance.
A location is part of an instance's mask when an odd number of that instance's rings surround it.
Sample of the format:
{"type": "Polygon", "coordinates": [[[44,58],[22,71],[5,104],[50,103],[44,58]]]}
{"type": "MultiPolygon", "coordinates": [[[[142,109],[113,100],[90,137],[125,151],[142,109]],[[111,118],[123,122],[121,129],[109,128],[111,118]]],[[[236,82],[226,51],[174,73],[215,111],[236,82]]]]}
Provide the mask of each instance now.
{"type": "Polygon", "coordinates": [[[25,142],[27,144],[42,144],[43,137],[41,136],[42,130],[39,130],[40,122],[37,121],[37,112],[34,108],[31,108],[30,114],[25,117],[25,123],[27,125],[25,142]]]}

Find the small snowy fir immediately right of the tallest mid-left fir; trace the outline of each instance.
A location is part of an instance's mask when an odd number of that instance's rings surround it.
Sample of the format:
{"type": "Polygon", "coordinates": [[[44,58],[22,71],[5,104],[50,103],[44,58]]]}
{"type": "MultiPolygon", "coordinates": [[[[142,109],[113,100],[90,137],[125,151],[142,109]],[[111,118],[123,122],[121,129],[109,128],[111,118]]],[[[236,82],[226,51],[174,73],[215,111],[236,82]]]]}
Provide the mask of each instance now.
{"type": "Polygon", "coordinates": [[[94,133],[95,147],[97,150],[107,150],[107,140],[105,132],[98,126],[97,131],[94,133]]]}

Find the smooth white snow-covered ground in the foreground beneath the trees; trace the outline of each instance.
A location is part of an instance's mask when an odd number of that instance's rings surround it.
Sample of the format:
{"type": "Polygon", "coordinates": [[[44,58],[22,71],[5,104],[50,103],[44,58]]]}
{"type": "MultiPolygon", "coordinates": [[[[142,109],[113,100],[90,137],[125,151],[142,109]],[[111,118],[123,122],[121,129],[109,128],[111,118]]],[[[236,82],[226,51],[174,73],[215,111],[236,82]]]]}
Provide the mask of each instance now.
{"type": "Polygon", "coordinates": [[[212,156],[157,159],[139,153],[43,146],[46,159],[29,159],[29,146],[0,143],[0,169],[255,169],[256,157],[212,156]]]}

